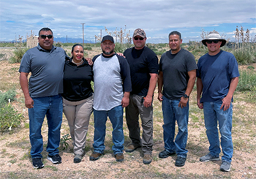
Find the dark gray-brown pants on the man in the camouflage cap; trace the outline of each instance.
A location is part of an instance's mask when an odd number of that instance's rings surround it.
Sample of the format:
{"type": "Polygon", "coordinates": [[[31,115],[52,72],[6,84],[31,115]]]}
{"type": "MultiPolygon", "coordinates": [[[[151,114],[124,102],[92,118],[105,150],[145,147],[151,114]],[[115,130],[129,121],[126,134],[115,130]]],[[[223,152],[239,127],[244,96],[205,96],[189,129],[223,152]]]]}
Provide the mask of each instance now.
{"type": "Polygon", "coordinates": [[[125,109],[129,138],[135,146],[142,145],[144,154],[151,154],[153,148],[153,107],[144,107],[143,96],[131,94],[129,105],[125,109]],[[143,129],[142,139],[140,140],[139,115],[143,129]]]}

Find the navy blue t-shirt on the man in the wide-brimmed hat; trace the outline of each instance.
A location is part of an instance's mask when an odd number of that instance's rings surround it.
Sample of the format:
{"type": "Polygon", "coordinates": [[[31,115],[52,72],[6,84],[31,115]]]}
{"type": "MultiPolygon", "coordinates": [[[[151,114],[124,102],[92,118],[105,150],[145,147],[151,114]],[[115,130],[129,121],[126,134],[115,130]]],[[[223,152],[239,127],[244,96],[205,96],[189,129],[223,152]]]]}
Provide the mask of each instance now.
{"type": "Polygon", "coordinates": [[[206,53],[199,58],[197,66],[197,77],[203,83],[203,94],[200,100],[202,103],[221,101],[227,96],[232,78],[239,77],[235,56],[222,50],[215,56],[209,56],[206,53]]]}

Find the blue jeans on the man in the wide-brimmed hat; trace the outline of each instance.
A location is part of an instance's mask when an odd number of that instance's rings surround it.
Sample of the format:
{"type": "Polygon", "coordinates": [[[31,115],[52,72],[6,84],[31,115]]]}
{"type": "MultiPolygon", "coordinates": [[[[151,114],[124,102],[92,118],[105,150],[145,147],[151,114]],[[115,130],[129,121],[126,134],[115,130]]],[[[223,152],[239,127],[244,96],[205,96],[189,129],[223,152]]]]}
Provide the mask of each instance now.
{"type": "Polygon", "coordinates": [[[206,134],[210,143],[209,151],[211,156],[219,156],[219,132],[221,134],[222,161],[231,162],[233,156],[233,142],[231,137],[233,104],[226,111],[220,109],[222,102],[203,102],[203,113],[206,125],[206,134]]]}

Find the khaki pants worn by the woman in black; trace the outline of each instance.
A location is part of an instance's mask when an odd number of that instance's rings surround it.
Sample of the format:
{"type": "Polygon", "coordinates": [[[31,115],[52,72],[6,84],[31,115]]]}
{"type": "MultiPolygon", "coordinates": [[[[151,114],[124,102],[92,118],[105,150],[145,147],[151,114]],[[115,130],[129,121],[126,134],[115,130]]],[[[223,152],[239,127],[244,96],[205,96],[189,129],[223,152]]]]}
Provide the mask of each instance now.
{"type": "Polygon", "coordinates": [[[92,113],[92,105],[93,96],[79,102],[70,102],[63,98],[63,112],[69,123],[74,153],[78,155],[83,155],[83,148],[86,147],[86,134],[92,113]]]}

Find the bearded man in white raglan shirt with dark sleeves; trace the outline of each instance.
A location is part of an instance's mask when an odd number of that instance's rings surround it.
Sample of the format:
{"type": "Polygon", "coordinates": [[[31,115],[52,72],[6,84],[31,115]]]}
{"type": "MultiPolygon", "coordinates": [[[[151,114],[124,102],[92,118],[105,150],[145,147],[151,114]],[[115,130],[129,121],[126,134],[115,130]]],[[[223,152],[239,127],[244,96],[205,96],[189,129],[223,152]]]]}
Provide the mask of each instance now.
{"type": "Polygon", "coordinates": [[[106,35],[101,43],[102,54],[94,56],[94,152],[90,161],[99,159],[105,150],[106,121],[113,126],[113,153],[116,161],[124,161],[124,107],[129,104],[132,91],[129,64],[114,53],[114,39],[106,35]],[[123,92],[124,91],[124,92],[123,92]]]}

